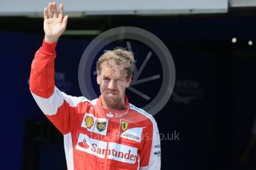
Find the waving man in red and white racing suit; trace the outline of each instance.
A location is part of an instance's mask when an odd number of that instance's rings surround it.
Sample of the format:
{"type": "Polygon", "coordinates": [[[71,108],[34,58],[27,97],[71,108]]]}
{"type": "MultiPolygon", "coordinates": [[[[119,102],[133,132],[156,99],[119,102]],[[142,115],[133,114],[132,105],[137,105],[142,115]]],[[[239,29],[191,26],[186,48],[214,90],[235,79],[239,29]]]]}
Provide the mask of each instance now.
{"type": "MultiPolygon", "coordinates": [[[[134,67],[131,52],[116,49],[97,61],[101,95],[88,101],[54,85],[56,42],[68,16],[63,5],[44,10],[45,40],[30,72],[30,91],[47,118],[64,135],[68,169],[160,169],[160,136],[154,118],[128,103],[125,89],[134,67]],[[49,12],[49,13],[48,13],[49,12]]],[[[89,83],[89,82],[88,82],[89,83]]]]}

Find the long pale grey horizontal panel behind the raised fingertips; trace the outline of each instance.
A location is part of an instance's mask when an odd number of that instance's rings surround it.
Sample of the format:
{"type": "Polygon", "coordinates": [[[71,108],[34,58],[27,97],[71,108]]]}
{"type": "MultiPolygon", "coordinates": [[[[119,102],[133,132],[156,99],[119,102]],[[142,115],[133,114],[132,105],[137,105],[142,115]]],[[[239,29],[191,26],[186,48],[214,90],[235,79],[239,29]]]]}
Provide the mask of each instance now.
{"type": "MultiPolygon", "coordinates": [[[[0,0],[1,16],[37,14],[49,1],[0,0]]],[[[133,13],[226,13],[228,0],[56,0],[65,5],[66,13],[133,14],[133,13]]]]}

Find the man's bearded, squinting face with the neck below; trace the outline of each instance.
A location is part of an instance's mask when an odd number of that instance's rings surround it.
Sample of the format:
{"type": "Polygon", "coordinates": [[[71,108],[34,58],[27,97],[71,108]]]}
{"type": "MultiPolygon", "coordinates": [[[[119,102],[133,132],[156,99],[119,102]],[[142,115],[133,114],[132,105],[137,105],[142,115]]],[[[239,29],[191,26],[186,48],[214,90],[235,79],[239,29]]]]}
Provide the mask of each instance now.
{"type": "Polygon", "coordinates": [[[131,83],[131,78],[125,77],[125,68],[114,64],[105,63],[101,66],[101,72],[97,75],[102,106],[108,109],[123,109],[125,106],[125,89],[131,83]]]}

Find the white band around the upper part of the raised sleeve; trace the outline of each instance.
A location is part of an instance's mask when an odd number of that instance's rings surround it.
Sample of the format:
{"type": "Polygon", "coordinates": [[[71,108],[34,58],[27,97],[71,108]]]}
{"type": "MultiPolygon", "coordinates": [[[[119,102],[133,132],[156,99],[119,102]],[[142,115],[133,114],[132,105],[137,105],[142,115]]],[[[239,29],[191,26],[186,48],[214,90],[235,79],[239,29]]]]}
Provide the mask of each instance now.
{"type": "Polygon", "coordinates": [[[59,107],[62,106],[64,101],[66,101],[71,107],[76,107],[78,103],[88,101],[85,97],[77,98],[66,95],[65,92],[61,92],[56,86],[54,88],[53,95],[51,95],[50,98],[42,98],[33,92],[31,93],[37,105],[45,115],[56,115],[59,107]]]}

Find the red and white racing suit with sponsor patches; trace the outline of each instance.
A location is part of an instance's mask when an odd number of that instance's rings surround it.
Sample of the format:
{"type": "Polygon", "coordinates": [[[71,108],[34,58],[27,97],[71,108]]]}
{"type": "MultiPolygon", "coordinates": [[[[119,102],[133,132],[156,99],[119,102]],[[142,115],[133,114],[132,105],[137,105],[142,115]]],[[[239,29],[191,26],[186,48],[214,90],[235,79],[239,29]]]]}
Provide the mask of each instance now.
{"type": "Polygon", "coordinates": [[[43,41],[30,72],[30,91],[47,118],[64,135],[73,169],[160,169],[160,135],[154,118],[128,103],[121,111],[61,92],[54,84],[56,43],[43,41]]]}

